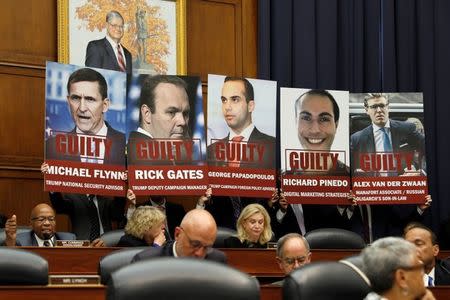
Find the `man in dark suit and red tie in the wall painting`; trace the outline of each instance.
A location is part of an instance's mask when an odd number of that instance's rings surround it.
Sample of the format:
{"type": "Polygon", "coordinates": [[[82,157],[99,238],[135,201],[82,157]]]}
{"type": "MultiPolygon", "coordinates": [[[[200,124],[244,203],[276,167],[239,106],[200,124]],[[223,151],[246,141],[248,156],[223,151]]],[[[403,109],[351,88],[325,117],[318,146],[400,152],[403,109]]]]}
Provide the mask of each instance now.
{"type": "Polygon", "coordinates": [[[131,53],[120,44],[124,34],[124,20],[117,11],[106,15],[106,37],[90,41],[86,48],[87,67],[126,73],[132,72],[131,53]]]}

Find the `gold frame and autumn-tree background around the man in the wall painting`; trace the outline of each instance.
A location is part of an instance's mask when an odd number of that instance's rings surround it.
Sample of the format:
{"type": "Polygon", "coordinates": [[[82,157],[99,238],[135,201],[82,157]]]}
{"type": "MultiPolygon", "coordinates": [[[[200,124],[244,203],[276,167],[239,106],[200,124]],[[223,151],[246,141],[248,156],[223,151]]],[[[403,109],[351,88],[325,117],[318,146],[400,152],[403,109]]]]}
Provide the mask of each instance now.
{"type": "Polygon", "coordinates": [[[133,70],[186,74],[187,0],[60,0],[58,61],[85,65],[86,47],[106,36],[106,15],[124,19],[120,43],[131,52],[133,70]]]}

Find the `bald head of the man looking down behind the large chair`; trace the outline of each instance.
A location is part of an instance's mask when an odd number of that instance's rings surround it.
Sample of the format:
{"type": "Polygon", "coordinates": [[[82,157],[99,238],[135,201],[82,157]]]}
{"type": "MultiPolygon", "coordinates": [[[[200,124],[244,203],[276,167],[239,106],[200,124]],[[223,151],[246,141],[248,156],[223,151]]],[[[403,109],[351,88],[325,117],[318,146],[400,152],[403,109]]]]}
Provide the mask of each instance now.
{"type": "Polygon", "coordinates": [[[177,255],[204,258],[214,244],[216,235],[216,221],[208,211],[189,211],[180,226],[175,228],[177,255]]]}

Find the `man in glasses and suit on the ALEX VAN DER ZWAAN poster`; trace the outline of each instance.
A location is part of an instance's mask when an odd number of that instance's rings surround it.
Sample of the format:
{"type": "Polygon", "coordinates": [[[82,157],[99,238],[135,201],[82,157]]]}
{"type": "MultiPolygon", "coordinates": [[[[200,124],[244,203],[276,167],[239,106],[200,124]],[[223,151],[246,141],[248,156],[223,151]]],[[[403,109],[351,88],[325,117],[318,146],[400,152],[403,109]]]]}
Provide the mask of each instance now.
{"type": "Polygon", "coordinates": [[[390,118],[389,94],[366,94],[364,97],[365,113],[370,117],[371,124],[351,135],[351,151],[353,156],[353,174],[358,176],[396,176],[404,173],[401,170],[386,172],[364,170],[361,166],[361,155],[371,153],[400,154],[410,153],[419,162],[414,162],[413,169],[419,171],[425,162],[425,137],[416,125],[407,121],[390,118]],[[415,155],[418,154],[418,155],[415,155]]]}

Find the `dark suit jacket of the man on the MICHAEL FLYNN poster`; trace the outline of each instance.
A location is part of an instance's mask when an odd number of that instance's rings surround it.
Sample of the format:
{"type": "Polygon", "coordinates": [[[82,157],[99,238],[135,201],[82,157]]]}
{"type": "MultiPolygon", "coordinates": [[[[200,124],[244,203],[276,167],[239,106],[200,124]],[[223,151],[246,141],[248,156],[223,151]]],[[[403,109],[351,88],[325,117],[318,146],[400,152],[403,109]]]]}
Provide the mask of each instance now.
{"type": "MultiPolygon", "coordinates": [[[[112,128],[107,122],[105,122],[108,127],[108,133],[106,138],[112,141],[111,152],[108,157],[104,158],[104,164],[111,165],[123,165],[125,166],[125,135],[120,131],[112,128]]],[[[76,134],[76,128],[74,128],[70,134],[76,134]]],[[[56,151],[56,139],[51,137],[46,142],[46,158],[47,159],[57,159],[57,160],[70,160],[70,161],[80,161],[80,156],[78,155],[66,155],[61,154],[56,151]]]]}

